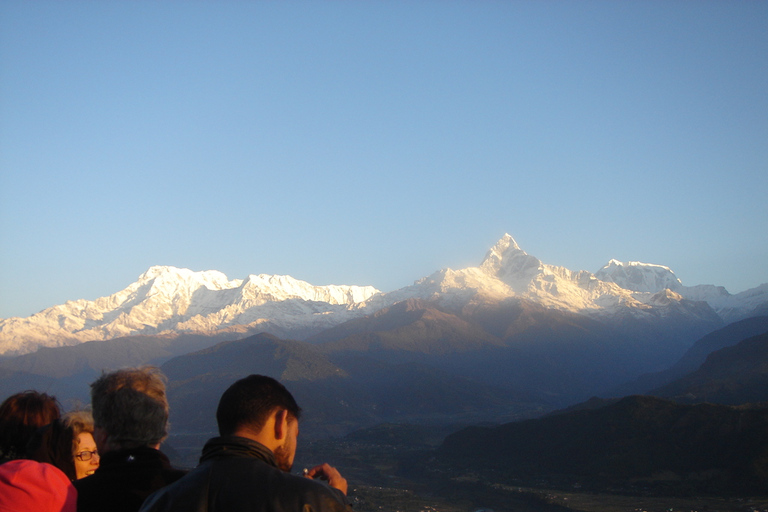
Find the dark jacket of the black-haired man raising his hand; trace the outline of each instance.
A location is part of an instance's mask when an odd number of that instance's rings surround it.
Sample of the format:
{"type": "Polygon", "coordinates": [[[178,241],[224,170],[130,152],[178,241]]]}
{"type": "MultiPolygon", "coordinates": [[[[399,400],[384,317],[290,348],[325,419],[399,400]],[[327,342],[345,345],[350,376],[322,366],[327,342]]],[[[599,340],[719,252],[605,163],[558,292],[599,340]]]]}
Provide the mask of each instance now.
{"type": "Polygon", "coordinates": [[[277,468],[264,445],[243,437],[217,437],[200,465],[150,496],[142,512],[342,512],[344,493],[277,468]]]}

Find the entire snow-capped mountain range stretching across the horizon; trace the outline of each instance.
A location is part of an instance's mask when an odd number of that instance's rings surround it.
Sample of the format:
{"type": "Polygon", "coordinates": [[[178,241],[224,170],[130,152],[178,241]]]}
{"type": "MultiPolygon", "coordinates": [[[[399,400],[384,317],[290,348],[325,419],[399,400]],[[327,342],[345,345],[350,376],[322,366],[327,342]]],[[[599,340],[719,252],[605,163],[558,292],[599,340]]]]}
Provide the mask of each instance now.
{"type": "Polygon", "coordinates": [[[768,284],[730,295],[711,285],[685,287],[667,267],[616,260],[596,274],[572,271],[527,254],[508,234],[479,266],[442,269],[388,293],[371,286],[313,286],[290,276],[229,280],[213,270],[158,266],[114,295],[0,320],[0,355],[163,332],[240,329],[301,339],[412,298],[463,307],[512,297],[602,321],[675,317],[714,325],[722,321],[715,311],[730,321],[765,307],[768,284]]]}

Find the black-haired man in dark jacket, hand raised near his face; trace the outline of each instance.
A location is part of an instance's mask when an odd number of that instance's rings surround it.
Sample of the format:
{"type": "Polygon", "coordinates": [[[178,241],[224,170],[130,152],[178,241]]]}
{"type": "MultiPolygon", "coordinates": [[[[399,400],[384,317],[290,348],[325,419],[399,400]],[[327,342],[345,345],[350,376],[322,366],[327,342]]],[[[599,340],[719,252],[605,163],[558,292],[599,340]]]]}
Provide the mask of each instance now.
{"type": "Polygon", "coordinates": [[[216,421],[220,437],[203,448],[200,465],[150,496],[142,512],[342,512],[347,481],[323,464],[290,474],[301,409],[278,381],[250,375],[227,389],[216,421]],[[326,483],[318,482],[324,480],[326,483]]]}

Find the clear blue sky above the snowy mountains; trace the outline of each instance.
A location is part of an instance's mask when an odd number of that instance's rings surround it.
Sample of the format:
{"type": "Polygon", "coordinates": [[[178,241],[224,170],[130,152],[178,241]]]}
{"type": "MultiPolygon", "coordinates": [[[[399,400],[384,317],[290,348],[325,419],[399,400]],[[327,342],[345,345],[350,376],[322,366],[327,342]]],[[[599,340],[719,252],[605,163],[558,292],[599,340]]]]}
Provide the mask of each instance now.
{"type": "Polygon", "coordinates": [[[0,3],[0,317],[152,265],[390,291],[509,232],[768,282],[768,2],[0,3]]]}

